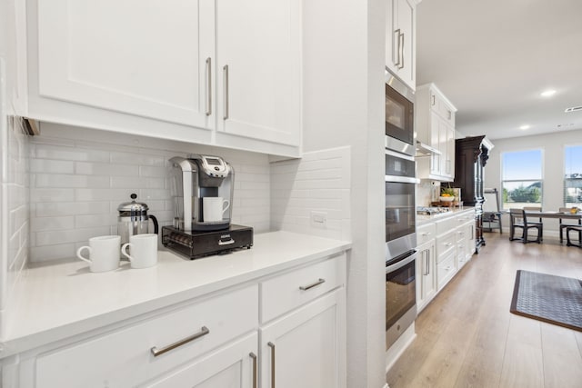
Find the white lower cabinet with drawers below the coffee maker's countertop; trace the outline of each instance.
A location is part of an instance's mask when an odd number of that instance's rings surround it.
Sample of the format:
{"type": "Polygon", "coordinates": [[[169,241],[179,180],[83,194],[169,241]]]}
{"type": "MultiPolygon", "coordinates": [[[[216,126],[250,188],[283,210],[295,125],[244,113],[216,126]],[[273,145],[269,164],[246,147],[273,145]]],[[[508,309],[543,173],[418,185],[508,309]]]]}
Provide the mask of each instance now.
{"type": "Polygon", "coordinates": [[[5,383],[11,388],[343,388],[345,283],[345,254],[269,274],[19,354],[5,383]]]}

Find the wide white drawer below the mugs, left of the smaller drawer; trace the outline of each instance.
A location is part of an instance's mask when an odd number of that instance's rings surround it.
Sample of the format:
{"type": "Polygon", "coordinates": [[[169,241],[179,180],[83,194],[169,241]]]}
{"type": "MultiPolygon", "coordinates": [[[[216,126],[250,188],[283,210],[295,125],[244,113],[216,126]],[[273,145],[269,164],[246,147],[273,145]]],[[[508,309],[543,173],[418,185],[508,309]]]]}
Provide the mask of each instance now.
{"type": "Polygon", "coordinates": [[[36,359],[38,388],[128,387],[146,382],[258,326],[258,286],[158,315],[36,359]],[[207,329],[206,330],[204,329],[207,329]],[[167,353],[164,349],[198,336],[167,353]]]}

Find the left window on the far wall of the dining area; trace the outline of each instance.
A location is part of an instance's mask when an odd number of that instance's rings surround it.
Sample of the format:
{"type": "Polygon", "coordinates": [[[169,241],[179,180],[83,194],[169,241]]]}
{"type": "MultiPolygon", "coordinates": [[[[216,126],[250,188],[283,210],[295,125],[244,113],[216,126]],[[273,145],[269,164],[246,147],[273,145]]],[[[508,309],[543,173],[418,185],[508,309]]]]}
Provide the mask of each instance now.
{"type": "Polygon", "coordinates": [[[503,208],[541,206],[542,150],[502,154],[503,208]]]}

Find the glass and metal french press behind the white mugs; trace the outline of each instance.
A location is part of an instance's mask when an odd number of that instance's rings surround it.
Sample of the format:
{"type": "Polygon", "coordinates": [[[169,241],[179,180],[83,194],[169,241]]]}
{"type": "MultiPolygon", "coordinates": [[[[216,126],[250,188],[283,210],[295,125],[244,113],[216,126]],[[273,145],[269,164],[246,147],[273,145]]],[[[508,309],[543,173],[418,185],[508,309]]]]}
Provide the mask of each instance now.
{"type": "Polygon", "coordinates": [[[154,233],[158,232],[157,219],[153,215],[148,215],[147,204],[135,202],[137,194],[130,195],[132,201],[125,202],[117,206],[119,216],[117,217],[117,234],[121,236],[121,244],[129,243],[129,237],[135,234],[149,233],[149,220],[154,223],[154,233]]]}

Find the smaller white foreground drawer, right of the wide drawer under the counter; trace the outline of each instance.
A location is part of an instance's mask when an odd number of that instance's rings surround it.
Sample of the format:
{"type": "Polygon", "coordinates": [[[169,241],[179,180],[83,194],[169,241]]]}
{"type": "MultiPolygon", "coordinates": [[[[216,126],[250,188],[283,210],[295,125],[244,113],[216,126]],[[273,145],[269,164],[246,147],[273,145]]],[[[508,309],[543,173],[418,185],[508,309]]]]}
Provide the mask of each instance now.
{"type": "Polygon", "coordinates": [[[346,255],[308,265],[261,283],[261,322],[265,323],[344,284],[346,255]]]}

